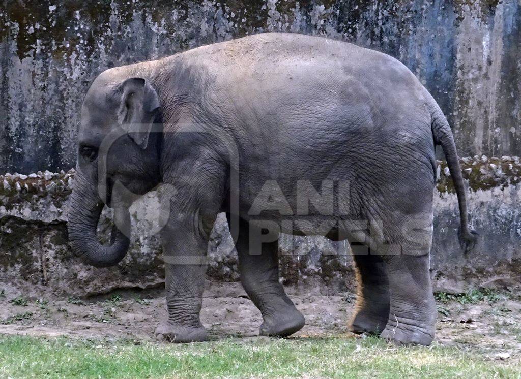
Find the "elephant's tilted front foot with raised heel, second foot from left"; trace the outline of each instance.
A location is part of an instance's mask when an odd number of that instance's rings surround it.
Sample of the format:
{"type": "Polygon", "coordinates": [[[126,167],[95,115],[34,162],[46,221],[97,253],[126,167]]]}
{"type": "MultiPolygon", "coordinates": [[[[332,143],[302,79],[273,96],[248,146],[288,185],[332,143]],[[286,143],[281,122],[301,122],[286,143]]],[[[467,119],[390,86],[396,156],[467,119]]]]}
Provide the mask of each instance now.
{"type": "Polygon", "coordinates": [[[294,306],[284,307],[263,316],[259,334],[267,337],[287,337],[302,329],[306,319],[294,306]]]}

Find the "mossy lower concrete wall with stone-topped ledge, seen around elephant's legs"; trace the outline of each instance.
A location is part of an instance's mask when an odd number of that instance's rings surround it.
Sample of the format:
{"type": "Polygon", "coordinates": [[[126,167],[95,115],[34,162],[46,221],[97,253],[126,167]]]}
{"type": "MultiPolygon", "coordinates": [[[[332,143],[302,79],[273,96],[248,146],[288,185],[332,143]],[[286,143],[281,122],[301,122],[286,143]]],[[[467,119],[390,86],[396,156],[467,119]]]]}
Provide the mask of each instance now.
{"type": "MultiPolygon", "coordinates": [[[[464,292],[521,282],[521,163],[519,158],[463,159],[472,224],[481,234],[475,250],[463,254],[457,243],[459,215],[452,181],[439,165],[431,276],[436,290],[464,292]]],[[[89,295],[120,288],[155,287],[164,281],[154,193],[131,208],[132,238],[126,258],[98,269],[74,257],[67,244],[66,214],[74,173],[0,176],[0,283],[9,292],[89,295]]],[[[102,218],[108,240],[110,212],[102,218]]],[[[353,289],[352,255],[345,242],[282,236],[281,278],[288,286],[338,293],[353,289]]],[[[237,253],[220,215],[208,247],[208,278],[235,281],[237,253]]],[[[3,288],[0,287],[0,290],[3,288]]]]}

